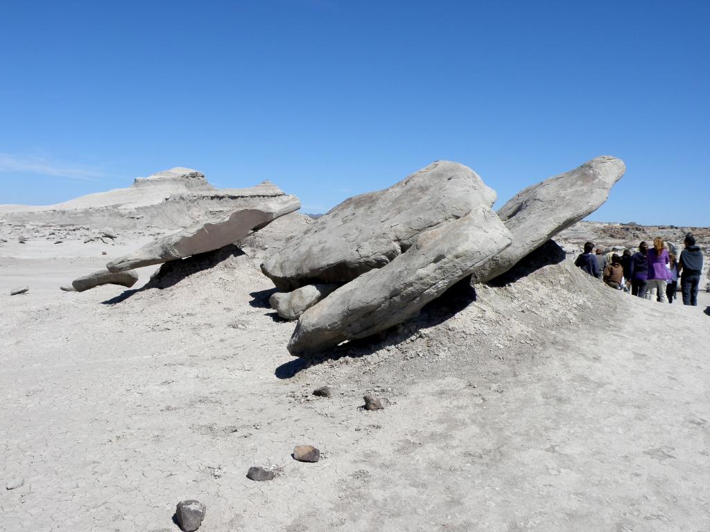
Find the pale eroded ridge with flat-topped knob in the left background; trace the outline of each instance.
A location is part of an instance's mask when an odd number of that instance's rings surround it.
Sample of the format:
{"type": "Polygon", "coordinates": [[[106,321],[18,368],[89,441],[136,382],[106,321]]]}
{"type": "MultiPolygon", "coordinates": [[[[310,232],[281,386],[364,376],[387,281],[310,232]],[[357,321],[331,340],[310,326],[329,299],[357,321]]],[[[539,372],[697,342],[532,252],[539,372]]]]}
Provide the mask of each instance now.
{"type": "Polygon", "coordinates": [[[285,192],[268,181],[246,189],[217,189],[202,172],[175,167],[138,177],[126,189],[87,194],[59,204],[0,205],[0,218],[9,223],[111,226],[119,231],[148,226],[182,229],[278,196],[285,196],[285,192]]]}

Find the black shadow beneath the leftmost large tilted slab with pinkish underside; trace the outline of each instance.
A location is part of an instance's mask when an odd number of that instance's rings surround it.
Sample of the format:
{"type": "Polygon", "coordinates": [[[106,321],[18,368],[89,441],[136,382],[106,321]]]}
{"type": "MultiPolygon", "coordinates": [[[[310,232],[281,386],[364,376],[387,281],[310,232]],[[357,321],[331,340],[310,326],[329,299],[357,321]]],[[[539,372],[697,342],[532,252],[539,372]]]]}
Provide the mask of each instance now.
{"type": "Polygon", "coordinates": [[[236,257],[241,257],[246,255],[244,251],[240,250],[234,244],[225,245],[224,248],[219,248],[214,251],[207,251],[206,253],[198,253],[197,255],[192,255],[184,259],[170,260],[164,262],[158,270],[151,276],[151,279],[143,285],[143,287],[135,290],[126,290],[123,294],[116,296],[107,301],[102,301],[104,305],[114,305],[121,303],[121,301],[126,301],[134,294],[138,292],[146,292],[146,290],[158,289],[163,290],[166,288],[174,287],[175,284],[182,282],[191,275],[195,275],[198,272],[204,272],[204,270],[211,270],[215,266],[219,265],[220,262],[229,260],[236,257]]]}

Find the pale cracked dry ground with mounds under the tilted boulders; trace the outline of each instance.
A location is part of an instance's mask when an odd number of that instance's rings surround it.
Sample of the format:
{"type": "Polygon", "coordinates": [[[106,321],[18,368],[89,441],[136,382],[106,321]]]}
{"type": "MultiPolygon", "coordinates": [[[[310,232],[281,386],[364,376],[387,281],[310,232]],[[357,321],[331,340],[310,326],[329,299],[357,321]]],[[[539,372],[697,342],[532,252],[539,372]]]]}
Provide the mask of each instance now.
{"type": "Polygon", "coordinates": [[[706,526],[701,309],[563,262],[476,301],[459,284],[417,323],[302,367],[271,282],[220,253],[123,297],[3,299],[1,478],[24,481],[0,490],[5,530],[173,531],[183,499],[207,504],[201,531],[706,526]],[[323,384],[332,399],[310,395],[323,384]],[[393,405],[359,411],[366,393],[393,405]],[[302,443],[321,461],[290,458],[302,443]],[[252,482],[252,465],[283,474],[252,482]]]}

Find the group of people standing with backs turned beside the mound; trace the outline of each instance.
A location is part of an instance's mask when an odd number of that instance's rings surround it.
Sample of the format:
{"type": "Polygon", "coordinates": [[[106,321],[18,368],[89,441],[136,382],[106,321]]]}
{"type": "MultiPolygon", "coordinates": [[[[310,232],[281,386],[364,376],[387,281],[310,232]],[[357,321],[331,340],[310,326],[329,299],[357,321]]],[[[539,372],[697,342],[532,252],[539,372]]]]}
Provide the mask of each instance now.
{"type": "Polygon", "coordinates": [[[615,253],[621,248],[613,248],[606,255],[599,248],[592,253],[594,243],[587,242],[574,265],[612,288],[662,303],[673,302],[680,279],[683,304],[697,306],[703,253],[693,235],[686,235],[683,243],[684,250],[677,257],[675,248],[660,236],[653,239],[650,249],[647,243],[640,243],[633,255],[629,250],[623,250],[621,255],[615,253]]]}

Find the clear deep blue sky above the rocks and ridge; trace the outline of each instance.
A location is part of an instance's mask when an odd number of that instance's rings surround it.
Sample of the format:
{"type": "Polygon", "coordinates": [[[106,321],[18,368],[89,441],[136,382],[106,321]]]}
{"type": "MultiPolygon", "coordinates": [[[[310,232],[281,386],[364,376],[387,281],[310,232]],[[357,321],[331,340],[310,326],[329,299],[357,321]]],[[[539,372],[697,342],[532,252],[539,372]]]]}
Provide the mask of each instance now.
{"type": "Polygon", "coordinates": [[[597,155],[591,219],[710,226],[710,2],[29,1],[0,11],[0,203],[174,166],[324,212],[438,159],[498,191],[597,155]]]}

